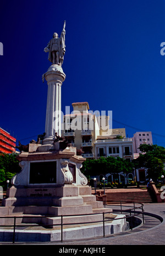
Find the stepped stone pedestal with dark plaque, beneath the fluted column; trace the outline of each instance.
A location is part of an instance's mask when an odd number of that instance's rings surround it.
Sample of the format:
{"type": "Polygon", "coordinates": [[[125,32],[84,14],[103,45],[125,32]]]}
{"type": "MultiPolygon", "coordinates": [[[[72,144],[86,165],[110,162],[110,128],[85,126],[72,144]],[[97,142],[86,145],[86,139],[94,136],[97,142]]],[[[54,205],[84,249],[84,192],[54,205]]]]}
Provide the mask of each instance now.
{"type": "MultiPolygon", "coordinates": [[[[76,155],[74,147],[60,149],[60,142],[52,147],[47,145],[47,151],[43,151],[46,145],[29,144],[29,151],[21,152],[18,159],[22,170],[12,179],[12,187],[2,201],[0,216],[23,215],[21,222],[28,223],[41,222],[35,215],[57,217],[87,214],[90,220],[100,220],[101,215],[90,215],[111,209],[103,208],[103,202],[96,201],[96,196],[91,194],[91,187],[80,171],[85,159],[76,155]],[[26,215],[34,215],[34,218],[27,221],[26,215]]],[[[76,216],[77,222],[83,220],[76,216]]],[[[10,219],[6,221],[9,223],[10,219]]],[[[42,218],[42,222],[45,221],[51,225],[58,219],[42,218]]],[[[73,223],[74,218],[68,217],[65,221],[73,223]]]]}

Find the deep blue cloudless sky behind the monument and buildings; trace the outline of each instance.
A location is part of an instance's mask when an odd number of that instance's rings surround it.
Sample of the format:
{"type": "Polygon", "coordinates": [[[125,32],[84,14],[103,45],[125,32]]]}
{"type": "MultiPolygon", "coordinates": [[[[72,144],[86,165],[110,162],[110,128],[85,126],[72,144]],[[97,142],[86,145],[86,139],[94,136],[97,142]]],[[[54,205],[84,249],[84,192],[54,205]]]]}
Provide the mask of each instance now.
{"type": "Polygon", "coordinates": [[[45,132],[51,62],[43,51],[66,20],[62,111],[87,101],[113,128],[151,131],[165,147],[164,0],[1,1],[0,127],[22,144],[45,132]]]}

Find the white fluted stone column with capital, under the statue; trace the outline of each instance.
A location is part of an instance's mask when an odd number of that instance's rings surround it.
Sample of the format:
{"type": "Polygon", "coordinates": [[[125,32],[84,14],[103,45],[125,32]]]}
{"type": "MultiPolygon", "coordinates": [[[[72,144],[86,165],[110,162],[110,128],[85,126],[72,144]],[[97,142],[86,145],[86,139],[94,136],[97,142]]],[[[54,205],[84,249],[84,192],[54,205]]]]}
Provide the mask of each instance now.
{"type": "Polygon", "coordinates": [[[51,65],[45,73],[48,85],[45,139],[42,144],[53,144],[54,134],[61,136],[61,86],[65,80],[63,69],[59,65],[51,65]]]}

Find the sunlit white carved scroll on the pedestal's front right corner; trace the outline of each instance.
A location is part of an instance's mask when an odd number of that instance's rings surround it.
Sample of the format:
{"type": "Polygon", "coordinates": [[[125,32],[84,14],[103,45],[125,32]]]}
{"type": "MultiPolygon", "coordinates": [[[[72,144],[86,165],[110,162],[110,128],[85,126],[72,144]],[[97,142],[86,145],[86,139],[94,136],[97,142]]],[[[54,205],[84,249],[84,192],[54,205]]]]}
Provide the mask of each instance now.
{"type": "Polygon", "coordinates": [[[61,171],[62,171],[62,184],[72,184],[73,183],[73,175],[69,170],[69,161],[65,159],[60,160],[61,163],[61,171]]]}

